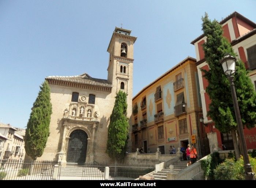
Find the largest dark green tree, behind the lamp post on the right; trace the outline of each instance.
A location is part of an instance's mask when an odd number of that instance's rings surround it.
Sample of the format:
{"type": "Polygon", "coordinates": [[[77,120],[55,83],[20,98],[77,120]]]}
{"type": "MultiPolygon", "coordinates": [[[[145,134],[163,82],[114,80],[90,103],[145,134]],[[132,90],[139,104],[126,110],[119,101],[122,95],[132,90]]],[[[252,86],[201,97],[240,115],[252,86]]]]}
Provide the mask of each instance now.
{"type": "MultiPolygon", "coordinates": [[[[236,142],[237,122],[231,97],[230,83],[219,62],[226,54],[237,55],[234,53],[231,44],[223,37],[221,24],[217,20],[211,21],[207,13],[202,17],[202,20],[202,30],[207,37],[207,42],[203,44],[203,49],[206,62],[210,68],[209,71],[203,70],[205,73],[204,76],[209,83],[206,92],[211,99],[210,110],[207,115],[212,118],[216,128],[220,132],[232,132],[236,157],[239,157],[240,154],[236,142]]],[[[249,129],[253,128],[256,122],[256,93],[248,76],[248,71],[246,71],[244,63],[240,59],[237,59],[236,62],[234,84],[242,123],[249,129]]]]}

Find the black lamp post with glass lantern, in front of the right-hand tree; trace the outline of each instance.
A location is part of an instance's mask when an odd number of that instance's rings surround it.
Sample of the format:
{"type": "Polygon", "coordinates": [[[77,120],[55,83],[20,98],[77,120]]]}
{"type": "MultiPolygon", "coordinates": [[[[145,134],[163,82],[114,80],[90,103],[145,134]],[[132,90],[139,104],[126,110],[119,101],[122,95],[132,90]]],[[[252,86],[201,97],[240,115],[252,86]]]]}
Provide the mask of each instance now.
{"type": "Polygon", "coordinates": [[[230,82],[231,95],[233,98],[238,134],[240,136],[241,149],[242,149],[242,154],[243,154],[243,158],[244,158],[245,179],[246,180],[254,180],[254,173],[252,172],[252,166],[250,164],[249,156],[247,153],[247,147],[246,147],[245,137],[244,137],[244,130],[243,130],[243,126],[242,126],[242,120],[241,120],[240,110],[238,107],[237,95],[236,95],[236,90],[235,90],[235,85],[234,85],[233,74],[236,72],[236,58],[231,55],[226,55],[226,56],[224,56],[223,59],[220,60],[220,62],[222,64],[224,73],[226,74],[226,76],[230,82]]]}

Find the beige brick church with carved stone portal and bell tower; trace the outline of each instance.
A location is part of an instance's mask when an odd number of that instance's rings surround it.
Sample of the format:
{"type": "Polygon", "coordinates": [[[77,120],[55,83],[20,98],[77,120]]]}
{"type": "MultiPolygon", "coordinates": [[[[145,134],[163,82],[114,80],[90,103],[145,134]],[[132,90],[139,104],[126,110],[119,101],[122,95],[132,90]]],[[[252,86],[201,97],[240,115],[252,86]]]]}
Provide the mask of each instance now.
{"type": "Polygon", "coordinates": [[[137,38],[130,34],[131,30],[115,28],[107,50],[107,79],[92,78],[87,73],[45,78],[51,89],[53,113],[50,136],[38,160],[58,160],[63,164],[110,161],[106,153],[108,125],[119,90],[127,94],[131,125],[133,44],[137,38]]]}

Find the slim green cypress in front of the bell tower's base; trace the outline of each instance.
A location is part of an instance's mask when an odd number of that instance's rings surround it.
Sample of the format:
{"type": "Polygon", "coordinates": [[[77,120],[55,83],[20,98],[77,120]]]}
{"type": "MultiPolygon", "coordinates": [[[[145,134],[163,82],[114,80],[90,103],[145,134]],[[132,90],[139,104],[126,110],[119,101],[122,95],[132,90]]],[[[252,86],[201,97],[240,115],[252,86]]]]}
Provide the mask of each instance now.
{"type": "Polygon", "coordinates": [[[124,158],[128,141],[128,118],[127,115],[127,96],[123,91],[116,95],[116,101],[108,127],[108,141],[106,153],[115,162],[124,158]]]}

